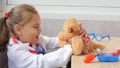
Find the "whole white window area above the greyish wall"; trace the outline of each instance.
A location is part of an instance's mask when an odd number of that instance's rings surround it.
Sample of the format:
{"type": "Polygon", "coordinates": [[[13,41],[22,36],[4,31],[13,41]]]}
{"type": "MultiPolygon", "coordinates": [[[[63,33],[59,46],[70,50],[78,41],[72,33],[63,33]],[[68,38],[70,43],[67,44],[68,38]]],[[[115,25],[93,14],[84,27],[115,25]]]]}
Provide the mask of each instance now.
{"type": "Polygon", "coordinates": [[[7,8],[23,3],[34,5],[44,19],[120,20],[120,0],[7,0],[7,8]]]}

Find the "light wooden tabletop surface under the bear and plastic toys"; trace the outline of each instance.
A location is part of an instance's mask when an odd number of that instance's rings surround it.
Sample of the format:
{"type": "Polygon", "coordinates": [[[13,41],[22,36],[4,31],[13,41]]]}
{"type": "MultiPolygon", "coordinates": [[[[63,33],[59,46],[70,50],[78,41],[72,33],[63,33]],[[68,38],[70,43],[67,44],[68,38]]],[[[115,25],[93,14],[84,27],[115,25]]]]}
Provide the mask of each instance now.
{"type": "MultiPolygon", "coordinates": [[[[112,52],[120,48],[120,38],[111,37],[110,40],[103,40],[100,43],[106,46],[105,51],[112,52]]],[[[74,56],[71,58],[71,68],[119,68],[120,59],[118,62],[99,62],[95,58],[91,63],[84,63],[86,55],[74,56]]]]}

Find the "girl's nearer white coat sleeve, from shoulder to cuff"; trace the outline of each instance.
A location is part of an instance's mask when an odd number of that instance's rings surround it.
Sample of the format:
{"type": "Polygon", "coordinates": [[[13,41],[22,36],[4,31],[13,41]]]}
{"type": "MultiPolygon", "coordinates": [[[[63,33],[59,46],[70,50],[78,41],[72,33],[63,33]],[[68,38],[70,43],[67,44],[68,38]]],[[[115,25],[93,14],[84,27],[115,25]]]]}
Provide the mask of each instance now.
{"type": "Polygon", "coordinates": [[[17,68],[56,68],[66,65],[72,55],[71,45],[59,48],[54,52],[32,54],[24,45],[8,47],[8,58],[17,68]]]}

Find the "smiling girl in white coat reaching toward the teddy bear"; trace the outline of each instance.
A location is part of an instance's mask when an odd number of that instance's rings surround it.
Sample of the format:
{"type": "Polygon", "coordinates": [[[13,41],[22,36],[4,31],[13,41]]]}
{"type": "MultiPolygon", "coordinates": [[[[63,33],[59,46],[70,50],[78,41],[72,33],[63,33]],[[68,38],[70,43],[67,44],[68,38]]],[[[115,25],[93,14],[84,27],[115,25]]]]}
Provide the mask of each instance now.
{"type": "Polygon", "coordinates": [[[17,5],[0,19],[0,46],[6,48],[9,68],[57,68],[72,55],[71,45],[57,49],[58,38],[40,34],[40,17],[30,5],[17,5]],[[57,49],[53,52],[49,50],[57,49]]]}

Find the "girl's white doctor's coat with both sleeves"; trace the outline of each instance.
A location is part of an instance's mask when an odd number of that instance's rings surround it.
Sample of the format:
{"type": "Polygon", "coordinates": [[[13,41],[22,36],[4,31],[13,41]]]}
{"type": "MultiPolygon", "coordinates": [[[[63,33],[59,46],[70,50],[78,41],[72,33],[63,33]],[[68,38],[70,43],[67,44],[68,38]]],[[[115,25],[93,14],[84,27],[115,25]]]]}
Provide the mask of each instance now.
{"type": "MultiPolygon", "coordinates": [[[[15,44],[13,38],[10,38],[8,44],[9,68],[57,68],[66,65],[72,55],[72,48],[69,44],[42,55],[30,53],[29,49],[32,47],[29,43],[17,41],[19,44],[15,44]]],[[[40,35],[39,43],[46,51],[55,49],[58,47],[58,38],[40,35]]]]}

